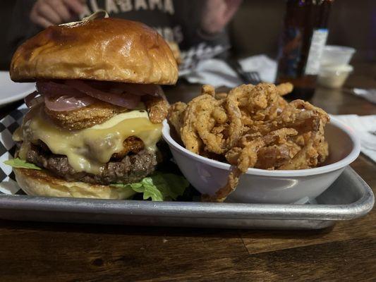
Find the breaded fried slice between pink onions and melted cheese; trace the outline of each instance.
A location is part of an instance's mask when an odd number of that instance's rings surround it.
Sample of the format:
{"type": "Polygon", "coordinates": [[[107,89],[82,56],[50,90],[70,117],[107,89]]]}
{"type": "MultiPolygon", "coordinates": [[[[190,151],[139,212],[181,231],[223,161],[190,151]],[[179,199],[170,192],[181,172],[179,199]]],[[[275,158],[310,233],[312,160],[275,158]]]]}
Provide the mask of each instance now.
{"type": "Polygon", "coordinates": [[[73,111],[51,111],[44,106],[44,112],[56,125],[68,130],[90,128],[104,123],[116,114],[126,111],[121,106],[114,106],[106,102],[98,102],[73,111]]]}

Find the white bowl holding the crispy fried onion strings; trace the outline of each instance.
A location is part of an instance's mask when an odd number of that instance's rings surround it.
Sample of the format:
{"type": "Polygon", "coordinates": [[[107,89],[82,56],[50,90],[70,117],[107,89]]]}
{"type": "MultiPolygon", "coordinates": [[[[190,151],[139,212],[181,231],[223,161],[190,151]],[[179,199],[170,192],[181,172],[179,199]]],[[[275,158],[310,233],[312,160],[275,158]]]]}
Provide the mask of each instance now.
{"type": "MultiPolygon", "coordinates": [[[[188,181],[201,193],[214,195],[224,186],[230,165],[193,154],[170,135],[169,123],[163,122],[162,135],[169,144],[176,164],[188,181]]],[[[314,199],[339,177],[360,153],[360,141],[351,128],[332,118],[325,127],[329,157],[325,166],[296,171],[267,171],[248,168],[229,202],[288,204],[314,199]]]]}

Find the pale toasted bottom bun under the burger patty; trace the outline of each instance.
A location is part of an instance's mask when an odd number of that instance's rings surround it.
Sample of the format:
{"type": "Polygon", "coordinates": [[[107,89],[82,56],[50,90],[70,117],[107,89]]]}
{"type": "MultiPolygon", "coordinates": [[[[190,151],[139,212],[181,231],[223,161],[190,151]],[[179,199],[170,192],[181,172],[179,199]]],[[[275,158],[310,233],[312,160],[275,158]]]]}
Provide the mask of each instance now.
{"type": "Polygon", "coordinates": [[[115,188],[83,182],[68,182],[56,178],[44,170],[13,168],[20,188],[32,196],[75,197],[97,199],[128,199],[135,192],[131,189],[115,188]]]}

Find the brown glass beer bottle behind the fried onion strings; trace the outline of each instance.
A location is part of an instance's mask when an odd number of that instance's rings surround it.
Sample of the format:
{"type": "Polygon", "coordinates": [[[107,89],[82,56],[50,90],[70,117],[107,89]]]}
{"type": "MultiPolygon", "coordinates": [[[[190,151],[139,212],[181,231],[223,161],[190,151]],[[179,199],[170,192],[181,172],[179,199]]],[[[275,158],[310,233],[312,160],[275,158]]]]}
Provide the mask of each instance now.
{"type": "Polygon", "coordinates": [[[277,82],[291,82],[289,99],[310,99],[320,57],[327,42],[329,11],[334,0],[287,0],[279,46],[277,82]]]}

